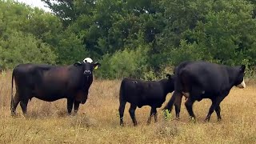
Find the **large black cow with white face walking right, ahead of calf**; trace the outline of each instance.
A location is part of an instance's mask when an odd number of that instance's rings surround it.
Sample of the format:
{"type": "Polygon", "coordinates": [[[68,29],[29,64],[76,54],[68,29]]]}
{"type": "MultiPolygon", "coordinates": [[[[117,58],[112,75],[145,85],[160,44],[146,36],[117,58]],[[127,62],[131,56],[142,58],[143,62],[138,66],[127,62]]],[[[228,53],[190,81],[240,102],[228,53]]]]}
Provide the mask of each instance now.
{"type": "Polygon", "coordinates": [[[205,118],[210,121],[210,116],[216,112],[218,121],[222,120],[220,103],[230,93],[233,86],[245,88],[244,82],[246,66],[225,66],[211,62],[182,62],[174,70],[175,90],[164,110],[171,110],[175,103],[176,118],[179,117],[182,95],[188,98],[185,102],[190,118],[194,119],[192,109],[195,101],[210,98],[212,104],[205,118]]]}

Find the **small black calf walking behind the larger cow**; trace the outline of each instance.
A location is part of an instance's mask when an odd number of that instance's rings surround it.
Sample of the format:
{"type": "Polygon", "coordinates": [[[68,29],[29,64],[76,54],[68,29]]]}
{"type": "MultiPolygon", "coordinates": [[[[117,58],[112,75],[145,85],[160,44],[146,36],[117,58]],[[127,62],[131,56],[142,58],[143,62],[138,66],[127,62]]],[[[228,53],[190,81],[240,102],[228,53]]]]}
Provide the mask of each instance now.
{"type": "Polygon", "coordinates": [[[123,78],[119,93],[119,116],[120,126],[123,126],[123,113],[126,102],[130,102],[130,117],[137,126],[135,110],[142,106],[150,106],[150,117],[147,123],[150,124],[151,117],[154,116],[154,122],[157,122],[157,108],[162,106],[166,101],[166,95],[174,91],[174,78],[166,74],[165,79],[160,81],[143,81],[133,78],[123,78]]]}

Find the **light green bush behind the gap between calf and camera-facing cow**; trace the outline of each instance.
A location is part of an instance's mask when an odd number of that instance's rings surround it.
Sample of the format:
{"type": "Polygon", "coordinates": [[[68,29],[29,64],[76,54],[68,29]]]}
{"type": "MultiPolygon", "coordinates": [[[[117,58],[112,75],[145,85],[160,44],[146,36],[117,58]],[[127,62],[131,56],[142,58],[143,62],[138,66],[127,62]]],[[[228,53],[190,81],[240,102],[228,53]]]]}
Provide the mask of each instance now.
{"type": "Polygon", "coordinates": [[[142,78],[146,73],[147,46],[138,46],[137,50],[118,50],[113,55],[102,58],[102,67],[96,72],[101,78],[142,78]]]}

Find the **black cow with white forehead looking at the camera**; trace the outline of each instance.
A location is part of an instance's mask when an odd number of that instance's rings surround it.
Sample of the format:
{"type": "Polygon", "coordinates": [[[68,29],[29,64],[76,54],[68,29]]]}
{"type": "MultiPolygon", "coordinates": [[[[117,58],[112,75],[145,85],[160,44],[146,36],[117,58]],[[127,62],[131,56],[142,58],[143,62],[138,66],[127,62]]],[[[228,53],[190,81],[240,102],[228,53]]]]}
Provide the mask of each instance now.
{"type": "Polygon", "coordinates": [[[67,99],[67,112],[77,114],[79,104],[84,104],[88,90],[93,82],[93,70],[100,66],[99,62],[75,62],[70,66],[50,66],[42,64],[20,64],[12,73],[11,114],[16,114],[20,102],[23,114],[31,98],[53,102],[61,98],[67,99]],[[16,94],[13,98],[15,82],[16,94]]]}

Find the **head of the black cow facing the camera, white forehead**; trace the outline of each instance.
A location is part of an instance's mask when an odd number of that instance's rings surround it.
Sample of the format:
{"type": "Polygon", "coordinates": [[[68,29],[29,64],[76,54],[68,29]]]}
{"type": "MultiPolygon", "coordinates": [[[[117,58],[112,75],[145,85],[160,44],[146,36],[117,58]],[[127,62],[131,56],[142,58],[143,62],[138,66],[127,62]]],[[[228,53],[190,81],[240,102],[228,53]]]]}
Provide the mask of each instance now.
{"type": "Polygon", "coordinates": [[[83,62],[75,62],[74,66],[81,68],[85,76],[92,76],[93,70],[97,69],[98,66],[101,66],[101,64],[99,62],[83,61],[83,62]]]}

